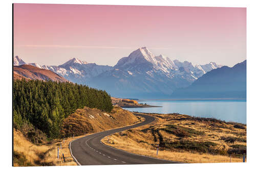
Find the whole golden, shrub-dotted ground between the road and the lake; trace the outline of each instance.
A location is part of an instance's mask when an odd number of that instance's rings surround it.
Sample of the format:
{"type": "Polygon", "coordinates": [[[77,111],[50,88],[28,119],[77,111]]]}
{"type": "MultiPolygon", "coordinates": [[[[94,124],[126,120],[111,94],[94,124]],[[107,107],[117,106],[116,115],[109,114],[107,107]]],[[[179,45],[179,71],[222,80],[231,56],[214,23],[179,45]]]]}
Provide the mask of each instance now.
{"type": "Polygon", "coordinates": [[[187,163],[230,162],[230,155],[231,162],[243,161],[246,125],[181,114],[150,115],[156,121],[102,141],[128,152],[187,163]]]}

